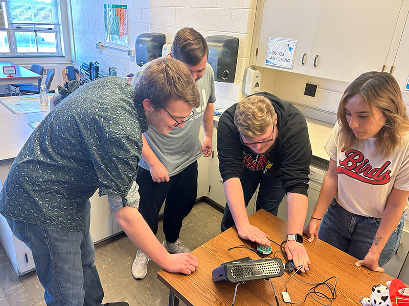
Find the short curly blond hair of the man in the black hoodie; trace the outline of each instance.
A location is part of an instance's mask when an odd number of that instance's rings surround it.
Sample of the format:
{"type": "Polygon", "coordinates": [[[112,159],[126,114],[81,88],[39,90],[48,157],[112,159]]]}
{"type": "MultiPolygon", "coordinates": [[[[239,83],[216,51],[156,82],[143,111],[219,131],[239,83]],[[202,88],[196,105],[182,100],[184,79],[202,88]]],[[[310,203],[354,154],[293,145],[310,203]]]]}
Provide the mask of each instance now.
{"type": "Polygon", "coordinates": [[[276,111],[269,99],[262,95],[252,95],[237,105],[234,124],[245,138],[256,138],[274,124],[275,115],[276,111]]]}

